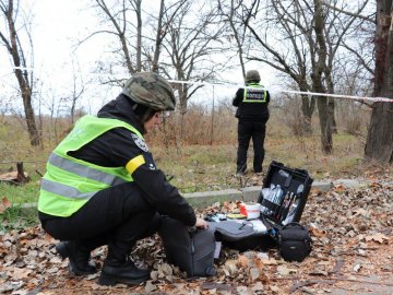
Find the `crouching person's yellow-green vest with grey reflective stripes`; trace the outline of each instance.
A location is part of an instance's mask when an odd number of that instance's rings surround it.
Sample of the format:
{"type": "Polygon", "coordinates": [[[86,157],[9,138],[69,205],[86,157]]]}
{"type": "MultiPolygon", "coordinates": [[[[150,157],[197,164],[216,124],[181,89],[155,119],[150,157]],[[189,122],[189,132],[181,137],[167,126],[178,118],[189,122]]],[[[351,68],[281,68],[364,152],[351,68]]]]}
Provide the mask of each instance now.
{"type": "Polygon", "coordinates": [[[53,216],[70,216],[94,194],[111,186],[133,181],[126,167],[105,167],[69,155],[104,132],[126,128],[143,140],[131,125],[109,118],[84,116],[49,156],[41,179],[38,211],[53,216]]]}

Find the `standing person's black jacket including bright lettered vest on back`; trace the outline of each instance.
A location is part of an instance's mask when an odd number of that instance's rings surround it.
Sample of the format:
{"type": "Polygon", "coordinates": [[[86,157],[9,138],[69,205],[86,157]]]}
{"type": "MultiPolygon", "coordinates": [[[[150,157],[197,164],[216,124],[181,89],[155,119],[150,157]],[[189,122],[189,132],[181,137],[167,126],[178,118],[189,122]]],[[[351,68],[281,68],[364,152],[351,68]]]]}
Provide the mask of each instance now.
{"type": "Polygon", "coordinates": [[[233,105],[237,107],[236,118],[241,120],[264,121],[269,119],[270,93],[259,83],[248,83],[238,88],[233,105]]]}

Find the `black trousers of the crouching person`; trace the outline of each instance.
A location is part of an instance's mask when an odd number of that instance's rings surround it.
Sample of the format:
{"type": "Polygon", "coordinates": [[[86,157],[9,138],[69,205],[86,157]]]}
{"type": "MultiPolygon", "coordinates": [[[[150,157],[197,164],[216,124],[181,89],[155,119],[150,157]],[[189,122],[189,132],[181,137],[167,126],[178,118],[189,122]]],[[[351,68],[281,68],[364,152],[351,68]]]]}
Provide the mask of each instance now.
{"type": "Polygon", "coordinates": [[[69,217],[44,220],[43,227],[60,240],[75,240],[93,250],[108,245],[108,259],[123,260],[136,240],[158,231],[159,214],[132,182],[97,192],[69,217]]]}

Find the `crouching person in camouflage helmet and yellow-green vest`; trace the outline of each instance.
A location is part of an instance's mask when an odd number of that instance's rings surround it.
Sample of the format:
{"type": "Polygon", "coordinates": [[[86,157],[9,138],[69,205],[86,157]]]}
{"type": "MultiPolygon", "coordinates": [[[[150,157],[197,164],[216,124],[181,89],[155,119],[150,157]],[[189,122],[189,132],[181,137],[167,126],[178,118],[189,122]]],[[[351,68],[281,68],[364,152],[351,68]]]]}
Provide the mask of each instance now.
{"type": "Polygon", "coordinates": [[[175,109],[169,83],[153,72],[134,74],[97,116],[84,116],[55,149],[38,200],[43,228],[60,241],[71,273],[97,271],[91,251],[108,245],[99,284],[139,284],[150,271],[129,259],[135,243],[154,234],[160,214],[207,227],[165,178],[143,139],[175,109]]]}

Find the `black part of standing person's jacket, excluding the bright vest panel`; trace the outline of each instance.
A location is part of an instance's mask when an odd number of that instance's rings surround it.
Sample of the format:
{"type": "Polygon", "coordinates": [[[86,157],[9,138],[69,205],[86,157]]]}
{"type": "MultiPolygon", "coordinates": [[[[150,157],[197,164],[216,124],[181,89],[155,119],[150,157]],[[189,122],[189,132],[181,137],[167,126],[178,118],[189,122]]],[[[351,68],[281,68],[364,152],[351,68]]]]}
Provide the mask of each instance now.
{"type": "Polygon", "coordinates": [[[266,91],[266,103],[243,103],[245,88],[238,88],[233,101],[233,106],[238,109],[236,118],[240,120],[264,121],[269,120],[270,93],[266,91]]]}

